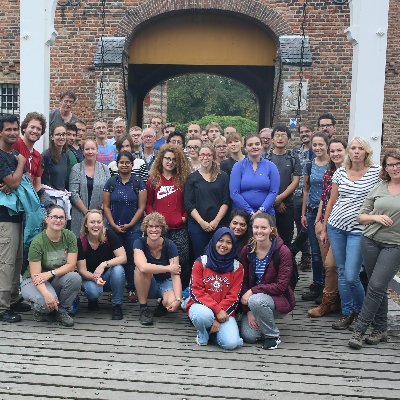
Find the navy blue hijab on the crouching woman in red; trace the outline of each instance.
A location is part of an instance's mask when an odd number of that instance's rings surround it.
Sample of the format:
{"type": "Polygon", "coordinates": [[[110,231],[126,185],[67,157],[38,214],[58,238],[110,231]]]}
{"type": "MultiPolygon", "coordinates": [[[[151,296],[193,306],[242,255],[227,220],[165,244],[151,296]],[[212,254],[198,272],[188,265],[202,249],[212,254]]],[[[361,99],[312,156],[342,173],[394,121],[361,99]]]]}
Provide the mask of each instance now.
{"type": "Polygon", "coordinates": [[[219,228],[215,231],[210,243],[207,246],[206,267],[220,274],[232,272],[234,267],[233,262],[236,258],[236,252],[236,238],[234,233],[229,228],[219,228]],[[222,256],[217,252],[216,245],[218,240],[226,234],[228,234],[232,239],[232,249],[228,254],[222,256]]]}

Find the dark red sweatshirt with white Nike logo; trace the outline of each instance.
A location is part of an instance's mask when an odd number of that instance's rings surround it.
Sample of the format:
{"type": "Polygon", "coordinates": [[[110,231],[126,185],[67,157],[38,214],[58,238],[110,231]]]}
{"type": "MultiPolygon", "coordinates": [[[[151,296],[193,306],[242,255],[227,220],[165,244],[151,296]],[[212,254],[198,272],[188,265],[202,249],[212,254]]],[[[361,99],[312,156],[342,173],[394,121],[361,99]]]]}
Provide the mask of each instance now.
{"type": "Polygon", "coordinates": [[[186,226],[182,217],[187,218],[183,202],[183,191],[175,184],[175,179],[167,179],[161,175],[160,186],[154,188],[153,178],[146,184],[146,213],[157,211],[165,217],[168,229],[182,229],[186,226]]]}

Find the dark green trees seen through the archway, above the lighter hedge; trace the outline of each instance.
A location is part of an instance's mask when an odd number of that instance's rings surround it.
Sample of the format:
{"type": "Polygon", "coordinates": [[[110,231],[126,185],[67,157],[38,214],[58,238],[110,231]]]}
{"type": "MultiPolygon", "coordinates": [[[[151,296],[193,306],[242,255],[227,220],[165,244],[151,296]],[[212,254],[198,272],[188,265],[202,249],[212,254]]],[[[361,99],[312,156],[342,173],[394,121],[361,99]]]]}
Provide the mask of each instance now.
{"type": "Polygon", "coordinates": [[[205,115],[256,121],[256,96],[245,85],[222,76],[190,74],[168,81],[168,121],[185,124],[205,115]]]}

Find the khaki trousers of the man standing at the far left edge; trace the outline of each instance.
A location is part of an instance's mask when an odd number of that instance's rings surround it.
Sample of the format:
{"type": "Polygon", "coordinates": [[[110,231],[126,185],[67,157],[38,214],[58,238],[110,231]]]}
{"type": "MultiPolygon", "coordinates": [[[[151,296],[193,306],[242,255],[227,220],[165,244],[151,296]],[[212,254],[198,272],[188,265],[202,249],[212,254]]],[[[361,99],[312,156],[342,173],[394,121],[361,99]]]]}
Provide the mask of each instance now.
{"type": "Polygon", "coordinates": [[[0,222],[0,312],[19,299],[22,267],[22,222],[0,222]]]}

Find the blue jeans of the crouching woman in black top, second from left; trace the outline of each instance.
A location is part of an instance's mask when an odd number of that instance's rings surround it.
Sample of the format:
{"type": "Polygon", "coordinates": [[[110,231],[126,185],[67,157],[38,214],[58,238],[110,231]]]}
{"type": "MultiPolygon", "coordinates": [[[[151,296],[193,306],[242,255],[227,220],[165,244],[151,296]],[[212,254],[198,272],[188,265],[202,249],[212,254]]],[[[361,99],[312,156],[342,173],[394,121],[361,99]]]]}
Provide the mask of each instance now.
{"type": "Polygon", "coordinates": [[[104,292],[112,293],[112,305],[121,305],[124,295],[125,271],[122,265],[107,268],[101,278],[106,281],[104,286],[96,285],[93,281],[82,281],[83,291],[88,300],[97,300],[104,292]]]}

